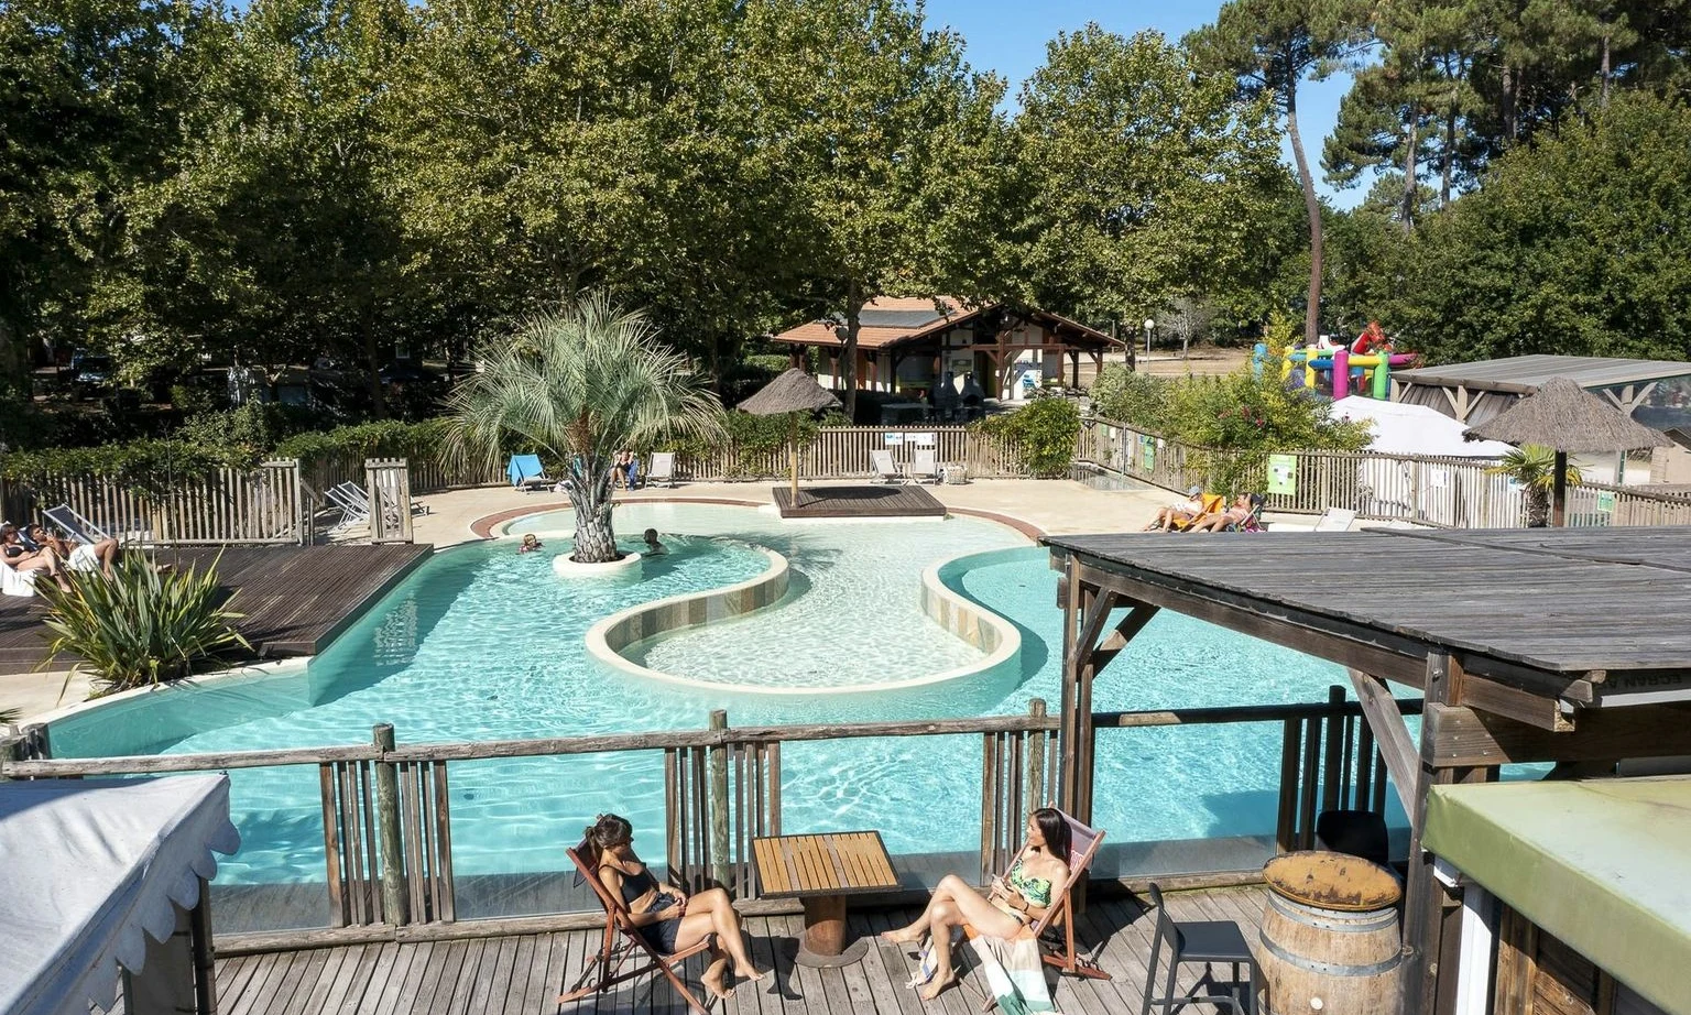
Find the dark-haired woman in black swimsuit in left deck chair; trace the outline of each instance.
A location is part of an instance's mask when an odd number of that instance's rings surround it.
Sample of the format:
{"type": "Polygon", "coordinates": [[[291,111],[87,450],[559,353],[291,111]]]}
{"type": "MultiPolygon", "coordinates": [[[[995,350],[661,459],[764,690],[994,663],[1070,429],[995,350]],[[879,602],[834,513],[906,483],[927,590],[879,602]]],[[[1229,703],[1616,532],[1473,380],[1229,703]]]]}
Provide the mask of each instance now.
{"type": "Polygon", "coordinates": [[[715,934],[710,946],[710,968],[702,978],[710,996],[727,998],[729,959],[734,974],[744,979],[763,979],[768,973],[751,964],[746,954],[746,934],[741,930],[734,902],[720,888],[700,892],[688,898],[680,888],[659,885],[644,863],[634,856],[634,826],[616,814],[600,814],[587,827],[587,844],[597,854],[594,868],[605,890],[622,898],[641,937],[659,954],[673,954],[692,947],[715,934]]]}

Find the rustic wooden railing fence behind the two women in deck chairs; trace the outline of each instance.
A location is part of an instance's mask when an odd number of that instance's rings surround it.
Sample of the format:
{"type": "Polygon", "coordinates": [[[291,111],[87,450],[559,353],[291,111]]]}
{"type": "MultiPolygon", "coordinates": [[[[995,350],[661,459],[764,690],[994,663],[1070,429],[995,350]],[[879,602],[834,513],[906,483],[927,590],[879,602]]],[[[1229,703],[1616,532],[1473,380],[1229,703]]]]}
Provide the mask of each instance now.
{"type": "MultiPolygon", "coordinates": [[[[1402,702],[1402,707],[1414,714],[1419,702],[1402,702]]],[[[1280,729],[1278,849],[1309,848],[1321,809],[1383,812],[1383,761],[1368,738],[1361,707],[1346,700],[1341,687],[1334,687],[1322,704],[1103,712],[1094,716],[1094,736],[1133,736],[1155,727],[1197,731],[1236,722],[1280,729]]],[[[457,922],[451,810],[446,802],[450,771],[458,763],[607,753],[649,756],[661,751],[670,876],[688,892],[720,885],[737,898],[756,898],[751,839],[781,834],[783,744],[979,736],[981,851],[976,873],[979,883],[986,883],[1004,870],[1020,846],[1032,809],[1048,805],[1057,795],[1059,727],[1057,717],[1047,716],[1045,704],[1035,700],[1025,716],[731,727],[727,716],[715,712],[702,731],[408,746],[396,746],[392,726],[380,724],[374,727],[372,743],[362,746],[54,760],[46,727],[29,726],[0,739],[0,778],[315,766],[331,927],[238,939],[245,947],[284,942],[287,947],[306,947],[343,942],[348,929],[374,930],[369,939],[377,939],[380,934],[392,935],[397,927],[457,922]]],[[[622,765],[631,763],[636,760],[622,760],[622,765]]],[[[911,776],[922,778],[920,768],[911,776]]],[[[1251,859],[1253,864],[1260,861],[1251,859]]],[[[1158,871],[1146,873],[1160,876],[1158,871]]],[[[1167,873],[1190,875],[1187,870],[1167,873]]],[[[1223,871],[1214,875],[1214,881],[1248,876],[1248,871],[1223,871]]],[[[580,922],[580,915],[570,914],[524,915],[531,929],[580,922]]],[[[497,934],[501,927],[509,927],[509,920],[465,920],[451,934],[497,934]]],[[[235,944],[222,934],[220,941],[235,944]]]]}

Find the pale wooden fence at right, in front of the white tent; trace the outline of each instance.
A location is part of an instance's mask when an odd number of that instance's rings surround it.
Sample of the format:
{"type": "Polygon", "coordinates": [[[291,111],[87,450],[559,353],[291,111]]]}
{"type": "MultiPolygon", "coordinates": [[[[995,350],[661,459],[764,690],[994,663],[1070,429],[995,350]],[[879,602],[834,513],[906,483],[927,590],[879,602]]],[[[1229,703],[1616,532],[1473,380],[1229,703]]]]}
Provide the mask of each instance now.
{"type": "MultiPolygon", "coordinates": [[[[1371,452],[1211,452],[1111,420],[1081,428],[1075,458],[1170,491],[1211,489],[1218,475],[1268,491],[1268,511],[1319,514],[1346,508],[1375,521],[1436,528],[1524,528],[1524,491],[1490,472],[1493,458],[1371,452]]],[[[1568,524],[1691,524],[1691,497],[1583,484],[1568,491],[1568,524]]]]}

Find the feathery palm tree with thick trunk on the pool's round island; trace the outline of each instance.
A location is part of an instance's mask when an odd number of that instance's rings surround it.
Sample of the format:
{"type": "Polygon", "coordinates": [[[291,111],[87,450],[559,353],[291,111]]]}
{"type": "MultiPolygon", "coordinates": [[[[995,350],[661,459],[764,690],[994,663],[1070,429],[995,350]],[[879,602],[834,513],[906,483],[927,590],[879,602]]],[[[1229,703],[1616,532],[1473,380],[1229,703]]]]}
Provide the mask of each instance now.
{"type": "Polygon", "coordinates": [[[448,398],[448,452],[497,462],[512,438],[560,462],[580,563],[617,560],[610,467],[627,447],[712,436],[722,403],[639,311],[588,293],[531,318],[448,398]]]}

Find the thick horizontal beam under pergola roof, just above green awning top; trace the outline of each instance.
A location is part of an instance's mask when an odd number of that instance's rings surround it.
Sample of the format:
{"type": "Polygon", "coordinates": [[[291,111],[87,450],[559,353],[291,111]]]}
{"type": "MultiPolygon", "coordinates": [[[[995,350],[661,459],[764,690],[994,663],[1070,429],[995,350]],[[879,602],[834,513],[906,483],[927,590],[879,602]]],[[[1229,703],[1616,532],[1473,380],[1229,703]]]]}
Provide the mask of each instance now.
{"type": "Polygon", "coordinates": [[[1691,754],[1691,705],[1686,704],[1584,709],[1573,732],[1551,732],[1447,704],[1427,704],[1420,722],[1437,768],[1691,754]]]}

